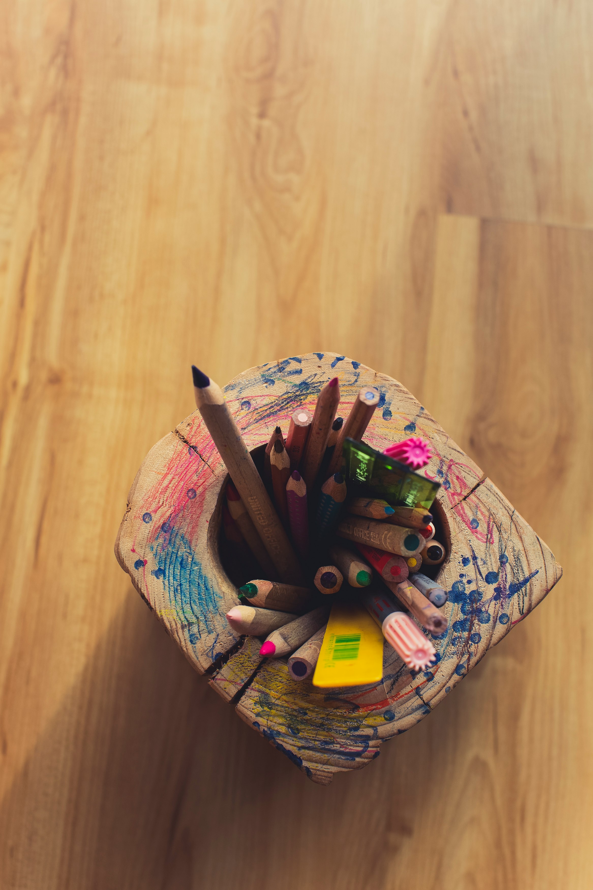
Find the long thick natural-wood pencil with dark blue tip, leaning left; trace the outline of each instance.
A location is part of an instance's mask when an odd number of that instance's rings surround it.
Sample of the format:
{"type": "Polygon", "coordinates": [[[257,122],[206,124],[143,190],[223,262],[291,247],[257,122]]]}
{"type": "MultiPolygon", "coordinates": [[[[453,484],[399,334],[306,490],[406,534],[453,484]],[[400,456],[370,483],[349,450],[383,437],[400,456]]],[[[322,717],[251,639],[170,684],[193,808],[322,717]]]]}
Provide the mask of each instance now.
{"type": "Polygon", "coordinates": [[[252,456],[228,410],[220,386],[197,368],[193,367],[192,371],[196,405],[251,516],[253,525],[276,567],[278,579],[289,584],[300,583],[303,576],[299,561],[282,527],[282,522],[268,498],[260,473],[257,472],[252,456]]]}

